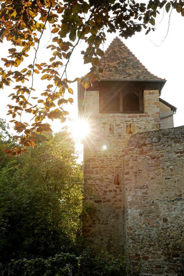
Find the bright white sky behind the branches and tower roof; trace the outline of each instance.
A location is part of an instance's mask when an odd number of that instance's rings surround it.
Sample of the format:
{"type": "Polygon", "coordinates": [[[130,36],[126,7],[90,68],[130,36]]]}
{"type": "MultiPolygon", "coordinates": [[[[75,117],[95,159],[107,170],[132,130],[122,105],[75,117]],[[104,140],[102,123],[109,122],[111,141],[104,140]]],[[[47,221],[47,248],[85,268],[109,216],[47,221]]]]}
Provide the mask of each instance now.
{"type": "MultiPolygon", "coordinates": [[[[162,17],[162,15],[161,15],[162,17]]],[[[160,17],[160,18],[161,18],[160,17]]],[[[157,23],[159,20],[157,19],[157,23]]],[[[167,79],[165,86],[163,87],[161,98],[176,106],[177,113],[174,115],[174,126],[184,125],[184,93],[183,93],[183,64],[184,64],[184,18],[181,14],[178,14],[173,10],[171,14],[169,32],[166,39],[163,41],[167,33],[168,28],[168,14],[165,12],[164,19],[158,26],[155,26],[155,32],[150,32],[147,36],[144,35],[145,31],[137,33],[135,36],[122,41],[133,52],[133,54],[143,63],[143,65],[154,75],[167,79]],[[162,43],[163,41],[163,43],[162,43]],[[157,47],[156,45],[160,45],[157,47]]],[[[110,42],[118,36],[118,33],[107,35],[107,40],[104,45],[104,50],[109,46],[110,42]]],[[[40,50],[38,52],[38,61],[44,62],[48,59],[49,50],[45,50],[44,46],[48,43],[50,34],[46,35],[40,43],[40,50]]],[[[121,37],[120,37],[121,38],[121,37]]],[[[52,44],[52,40],[47,44],[52,44]]],[[[74,79],[80,77],[89,71],[90,66],[83,64],[83,59],[80,51],[83,50],[83,42],[74,51],[73,58],[71,59],[70,66],[68,67],[67,77],[68,79],[74,79]]],[[[12,48],[9,42],[4,42],[0,45],[1,57],[6,57],[7,49],[12,48]]],[[[27,58],[23,68],[29,65],[33,61],[34,56],[30,55],[27,58]]],[[[2,65],[1,65],[2,66],[2,65]]],[[[14,69],[16,70],[16,68],[14,69]]],[[[36,74],[35,74],[36,76],[36,74]]],[[[36,76],[37,77],[37,76],[36,76]]],[[[16,83],[17,84],[17,83],[16,83]]],[[[35,79],[34,88],[39,92],[34,92],[31,96],[36,96],[36,93],[43,92],[43,86],[48,85],[47,81],[39,81],[35,79]]],[[[31,84],[29,83],[29,87],[31,84]]],[[[71,85],[74,90],[74,104],[73,106],[66,106],[66,110],[70,112],[70,117],[77,118],[77,83],[71,85]]],[[[45,88],[44,88],[45,89],[45,88]]],[[[7,108],[6,104],[10,103],[10,98],[7,96],[14,92],[11,87],[5,87],[1,90],[1,102],[0,102],[0,117],[5,118],[7,121],[11,120],[10,116],[6,116],[7,108]]],[[[71,95],[70,95],[71,97],[71,95]]],[[[25,120],[26,121],[26,117],[25,120]]],[[[52,124],[52,128],[55,132],[58,132],[63,127],[59,120],[49,122],[52,124]]],[[[11,125],[11,124],[10,124],[11,125]]]]}

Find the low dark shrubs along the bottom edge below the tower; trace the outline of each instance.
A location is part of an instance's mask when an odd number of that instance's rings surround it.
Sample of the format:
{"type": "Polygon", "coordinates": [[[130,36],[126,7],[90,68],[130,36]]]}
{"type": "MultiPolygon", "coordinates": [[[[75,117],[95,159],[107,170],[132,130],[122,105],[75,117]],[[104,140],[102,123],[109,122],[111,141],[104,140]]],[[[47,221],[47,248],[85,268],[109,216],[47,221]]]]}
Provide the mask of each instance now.
{"type": "Polygon", "coordinates": [[[10,275],[35,275],[35,276],[123,276],[128,275],[124,257],[117,258],[102,252],[103,257],[97,257],[90,250],[83,251],[81,255],[62,253],[47,259],[21,259],[12,260],[3,268],[2,274],[9,269],[10,275]]]}

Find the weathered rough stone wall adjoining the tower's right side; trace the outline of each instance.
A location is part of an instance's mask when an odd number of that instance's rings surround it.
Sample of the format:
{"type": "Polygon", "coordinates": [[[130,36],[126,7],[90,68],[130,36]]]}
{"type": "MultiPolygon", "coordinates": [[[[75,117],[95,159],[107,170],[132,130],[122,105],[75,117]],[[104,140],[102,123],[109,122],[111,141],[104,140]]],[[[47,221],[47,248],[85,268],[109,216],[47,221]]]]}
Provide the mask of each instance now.
{"type": "Polygon", "coordinates": [[[132,135],[126,247],[142,275],[177,275],[184,255],[184,127],[132,135]]]}

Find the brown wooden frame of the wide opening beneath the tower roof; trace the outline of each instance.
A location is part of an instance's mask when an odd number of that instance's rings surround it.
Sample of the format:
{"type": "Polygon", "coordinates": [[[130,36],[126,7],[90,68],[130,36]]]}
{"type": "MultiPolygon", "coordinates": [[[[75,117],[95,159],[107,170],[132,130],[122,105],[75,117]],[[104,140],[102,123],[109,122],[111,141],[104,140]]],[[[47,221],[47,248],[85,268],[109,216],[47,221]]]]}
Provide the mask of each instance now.
{"type": "MultiPolygon", "coordinates": [[[[114,111],[114,112],[106,112],[103,110],[103,94],[105,93],[104,90],[100,90],[99,91],[99,113],[103,113],[103,114],[140,114],[140,113],[144,113],[144,91],[143,90],[121,90],[119,91],[119,95],[120,95],[120,104],[119,104],[119,110],[114,111]],[[123,94],[124,96],[127,93],[133,92],[135,93],[138,97],[139,97],[139,111],[125,111],[123,110],[123,94]]],[[[112,92],[113,93],[113,92],[112,92]]]]}

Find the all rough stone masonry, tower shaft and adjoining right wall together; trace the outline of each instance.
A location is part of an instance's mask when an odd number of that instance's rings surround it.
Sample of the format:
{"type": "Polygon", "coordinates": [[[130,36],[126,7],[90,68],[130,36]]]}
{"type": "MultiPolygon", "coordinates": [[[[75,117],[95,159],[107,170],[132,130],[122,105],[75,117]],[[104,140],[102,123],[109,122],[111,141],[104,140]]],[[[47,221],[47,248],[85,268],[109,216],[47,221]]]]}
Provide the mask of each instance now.
{"type": "Polygon", "coordinates": [[[99,92],[85,92],[84,235],[142,275],[176,275],[184,255],[184,128],[159,130],[159,116],[158,90],[142,114],[99,114],[99,92]]]}

